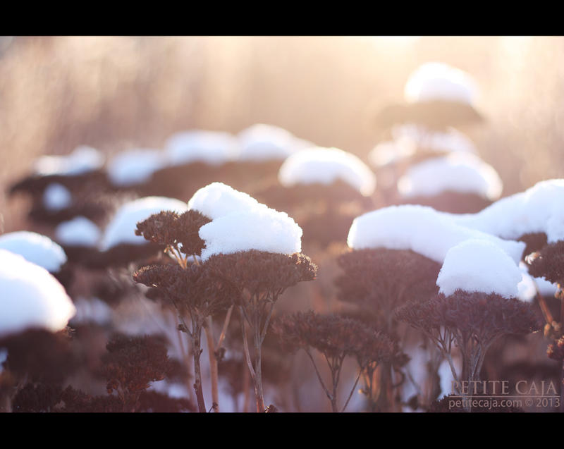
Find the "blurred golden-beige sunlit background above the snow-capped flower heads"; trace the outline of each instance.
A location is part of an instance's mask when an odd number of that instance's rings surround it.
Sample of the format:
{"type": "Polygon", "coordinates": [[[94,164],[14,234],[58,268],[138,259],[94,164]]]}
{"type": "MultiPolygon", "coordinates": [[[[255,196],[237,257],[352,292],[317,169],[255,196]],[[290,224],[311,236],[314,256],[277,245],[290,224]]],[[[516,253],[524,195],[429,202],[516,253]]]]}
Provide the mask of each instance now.
{"type": "Polygon", "coordinates": [[[504,195],[564,177],[564,37],[0,37],[0,231],[25,227],[6,186],[79,144],[270,123],[366,160],[376,113],[428,61],[477,81],[488,122],[470,136],[504,195]]]}

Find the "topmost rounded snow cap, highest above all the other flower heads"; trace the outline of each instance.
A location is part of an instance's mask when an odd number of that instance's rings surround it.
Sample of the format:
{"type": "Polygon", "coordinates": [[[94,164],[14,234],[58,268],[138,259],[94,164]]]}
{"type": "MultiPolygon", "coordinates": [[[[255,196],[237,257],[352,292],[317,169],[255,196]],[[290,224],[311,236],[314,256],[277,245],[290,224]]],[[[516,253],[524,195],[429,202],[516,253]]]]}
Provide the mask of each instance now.
{"type": "Polygon", "coordinates": [[[405,84],[407,102],[446,100],[473,104],[477,85],[472,77],[445,63],[429,62],[419,66],[405,84]]]}

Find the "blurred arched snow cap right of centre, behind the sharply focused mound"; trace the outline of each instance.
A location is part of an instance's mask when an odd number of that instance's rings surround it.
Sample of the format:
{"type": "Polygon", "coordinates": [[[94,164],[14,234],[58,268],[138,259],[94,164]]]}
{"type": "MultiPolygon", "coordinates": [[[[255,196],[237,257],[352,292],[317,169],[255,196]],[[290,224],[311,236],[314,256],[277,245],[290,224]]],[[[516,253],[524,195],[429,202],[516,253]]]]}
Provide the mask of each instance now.
{"type": "Polygon", "coordinates": [[[297,184],[331,184],[343,180],[362,195],[372,195],[376,176],[354,154],[338,148],[314,147],[294,153],[286,159],[278,180],[286,187],[297,184]]]}

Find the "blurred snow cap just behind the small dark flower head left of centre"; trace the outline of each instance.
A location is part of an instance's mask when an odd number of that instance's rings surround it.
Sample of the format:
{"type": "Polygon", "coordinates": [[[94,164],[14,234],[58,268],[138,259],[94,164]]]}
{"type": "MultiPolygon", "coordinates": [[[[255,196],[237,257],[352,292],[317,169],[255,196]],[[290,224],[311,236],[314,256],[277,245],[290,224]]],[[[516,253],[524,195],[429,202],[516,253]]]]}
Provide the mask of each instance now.
{"type": "Polygon", "coordinates": [[[121,243],[144,245],[147,240],[142,235],[135,235],[138,222],[160,211],[181,213],[186,209],[185,202],[166,197],[144,197],[127,202],[116,211],[114,219],[106,226],[100,247],[106,251],[121,243]]]}

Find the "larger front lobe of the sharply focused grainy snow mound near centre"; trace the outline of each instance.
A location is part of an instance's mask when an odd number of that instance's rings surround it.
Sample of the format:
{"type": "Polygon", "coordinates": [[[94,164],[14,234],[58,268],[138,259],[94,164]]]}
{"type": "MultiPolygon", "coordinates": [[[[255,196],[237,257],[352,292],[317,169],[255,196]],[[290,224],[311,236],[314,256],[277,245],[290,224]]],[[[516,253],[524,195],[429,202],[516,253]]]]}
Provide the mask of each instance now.
{"type": "Polygon", "coordinates": [[[302,250],[302,228],[288,214],[267,207],[220,216],[202,226],[199,234],[206,243],[204,262],[214,254],[238,251],[293,254],[302,250]]]}

